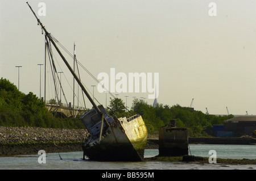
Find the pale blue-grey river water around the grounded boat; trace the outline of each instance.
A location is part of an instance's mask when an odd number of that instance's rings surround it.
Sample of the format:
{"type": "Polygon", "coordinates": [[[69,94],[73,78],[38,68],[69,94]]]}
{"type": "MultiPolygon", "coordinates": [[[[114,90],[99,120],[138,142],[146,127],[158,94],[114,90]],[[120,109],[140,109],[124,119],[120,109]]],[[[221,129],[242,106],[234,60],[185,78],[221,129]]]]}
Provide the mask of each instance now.
{"type": "MultiPolygon", "coordinates": [[[[201,157],[210,157],[210,150],[216,151],[218,158],[256,159],[256,145],[189,145],[189,154],[201,157]]],[[[158,150],[145,150],[144,157],[154,157],[158,150]]],[[[256,165],[221,165],[221,164],[197,164],[184,162],[97,162],[82,160],[82,151],[68,153],[46,153],[46,163],[39,159],[41,155],[16,155],[14,157],[0,157],[0,169],[63,169],[63,170],[256,170],[256,165]],[[62,158],[62,159],[60,159],[62,158]]]]}

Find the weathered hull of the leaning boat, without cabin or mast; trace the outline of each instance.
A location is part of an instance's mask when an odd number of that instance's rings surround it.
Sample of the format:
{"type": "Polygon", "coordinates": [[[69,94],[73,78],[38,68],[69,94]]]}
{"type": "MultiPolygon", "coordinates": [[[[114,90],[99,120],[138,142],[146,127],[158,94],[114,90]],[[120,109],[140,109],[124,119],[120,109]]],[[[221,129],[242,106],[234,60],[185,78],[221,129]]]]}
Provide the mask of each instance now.
{"type": "Polygon", "coordinates": [[[135,115],[113,121],[101,140],[90,137],[82,148],[84,156],[94,161],[143,161],[146,142],[146,125],[135,115]]]}

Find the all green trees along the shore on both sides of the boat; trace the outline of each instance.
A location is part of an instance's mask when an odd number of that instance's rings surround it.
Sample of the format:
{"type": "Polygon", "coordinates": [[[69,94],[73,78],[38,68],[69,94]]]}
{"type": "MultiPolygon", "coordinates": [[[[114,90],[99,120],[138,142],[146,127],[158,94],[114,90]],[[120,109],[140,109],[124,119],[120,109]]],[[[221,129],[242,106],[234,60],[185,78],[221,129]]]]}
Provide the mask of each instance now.
{"type": "MultiPolygon", "coordinates": [[[[213,125],[222,125],[233,115],[215,116],[181,107],[179,104],[168,106],[157,104],[152,107],[141,99],[134,99],[131,110],[125,108],[122,99],[110,100],[107,111],[116,117],[142,116],[148,133],[158,133],[160,127],[176,120],[176,127],[188,128],[189,136],[215,136],[213,125]]],[[[9,80],[0,79],[0,126],[5,127],[43,127],[43,128],[80,128],[84,129],[78,118],[60,119],[48,112],[46,104],[35,94],[24,94],[9,80]]]]}

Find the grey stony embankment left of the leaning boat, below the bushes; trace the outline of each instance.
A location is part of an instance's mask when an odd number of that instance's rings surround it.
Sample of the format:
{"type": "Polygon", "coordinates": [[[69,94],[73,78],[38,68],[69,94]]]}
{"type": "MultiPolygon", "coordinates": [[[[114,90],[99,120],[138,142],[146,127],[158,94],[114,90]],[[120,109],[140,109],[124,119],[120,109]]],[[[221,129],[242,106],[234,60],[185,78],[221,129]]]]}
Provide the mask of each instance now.
{"type": "Polygon", "coordinates": [[[82,151],[85,129],[0,127],[0,156],[82,151]]]}

